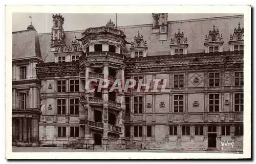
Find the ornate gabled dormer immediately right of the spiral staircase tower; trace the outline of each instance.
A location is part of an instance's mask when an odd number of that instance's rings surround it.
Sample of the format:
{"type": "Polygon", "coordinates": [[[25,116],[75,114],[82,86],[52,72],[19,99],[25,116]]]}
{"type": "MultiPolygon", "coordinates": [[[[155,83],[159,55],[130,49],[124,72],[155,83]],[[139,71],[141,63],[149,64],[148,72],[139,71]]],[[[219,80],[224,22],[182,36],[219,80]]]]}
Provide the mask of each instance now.
{"type": "Polygon", "coordinates": [[[143,36],[138,35],[134,37],[134,41],[131,42],[131,58],[142,58],[146,57],[147,45],[146,40],[143,39],[143,36]]]}

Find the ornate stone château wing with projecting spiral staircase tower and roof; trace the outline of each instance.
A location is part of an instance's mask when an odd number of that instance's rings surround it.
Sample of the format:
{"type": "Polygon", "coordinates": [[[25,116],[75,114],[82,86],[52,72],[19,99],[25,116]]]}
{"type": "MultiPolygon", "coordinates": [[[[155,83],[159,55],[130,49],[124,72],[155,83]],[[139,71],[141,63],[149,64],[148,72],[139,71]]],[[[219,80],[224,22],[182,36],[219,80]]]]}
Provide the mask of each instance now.
{"type": "Polygon", "coordinates": [[[41,145],[243,151],[243,16],[152,16],[152,24],[115,28],[110,20],[71,33],[53,15],[52,33],[39,34],[44,62],[32,69],[40,81],[32,105],[41,104],[41,145]],[[110,86],[116,79],[159,82],[150,92],[86,91],[89,79],[101,78],[110,86]],[[232,148],[222,146],[227,141],[232,148]]]}

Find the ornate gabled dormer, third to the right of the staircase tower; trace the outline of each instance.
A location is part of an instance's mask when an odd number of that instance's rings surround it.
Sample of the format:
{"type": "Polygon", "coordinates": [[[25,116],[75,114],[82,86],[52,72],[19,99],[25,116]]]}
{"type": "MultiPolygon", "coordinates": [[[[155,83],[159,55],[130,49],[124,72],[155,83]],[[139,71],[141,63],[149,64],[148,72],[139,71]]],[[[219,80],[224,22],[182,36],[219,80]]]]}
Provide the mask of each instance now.
{"type": "Polygon", "coordinates": [[[209,52],[222,52],[223,48],[223,37],[222,34],[220,35],[219,30],[215,30],[215,25],[213,30],[209,31],[209,35],[205,36],[204,46],[205,46],[205,53],[209,52]]]}

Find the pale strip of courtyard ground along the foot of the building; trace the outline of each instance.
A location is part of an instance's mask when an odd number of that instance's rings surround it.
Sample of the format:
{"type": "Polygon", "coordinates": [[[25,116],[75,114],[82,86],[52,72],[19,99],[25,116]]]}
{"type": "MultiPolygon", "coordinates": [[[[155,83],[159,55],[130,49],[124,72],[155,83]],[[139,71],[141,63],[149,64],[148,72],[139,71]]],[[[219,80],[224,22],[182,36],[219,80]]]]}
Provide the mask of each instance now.
{"type": "MultiPolygon", "coordinates": [[[[12,146],[12,152],[106,152],[106,150],[85,150],[85,149],[63,149],[63,148],[46,148],[46,147],[17,147],[12,146]]],[[[169,152],[169,153],[236,153],[243,152],[226,152],[226,151],[185,151],[185,150],[107,150],[107,152],[169,152]]]]}

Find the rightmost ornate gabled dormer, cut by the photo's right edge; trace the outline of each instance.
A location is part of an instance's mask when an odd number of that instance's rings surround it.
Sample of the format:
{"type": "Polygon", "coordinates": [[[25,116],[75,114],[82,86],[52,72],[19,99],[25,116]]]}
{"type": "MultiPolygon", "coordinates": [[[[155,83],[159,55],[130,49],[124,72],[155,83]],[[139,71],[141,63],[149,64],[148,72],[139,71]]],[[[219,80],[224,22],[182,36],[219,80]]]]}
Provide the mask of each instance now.
{"type": "Polygon", "coordinates": [[[228,45],[230,51],[244,50],[244,28],[241,29],[240,23],[238,29],[234,28],[234,33],[230,34],[228,45]]]}

